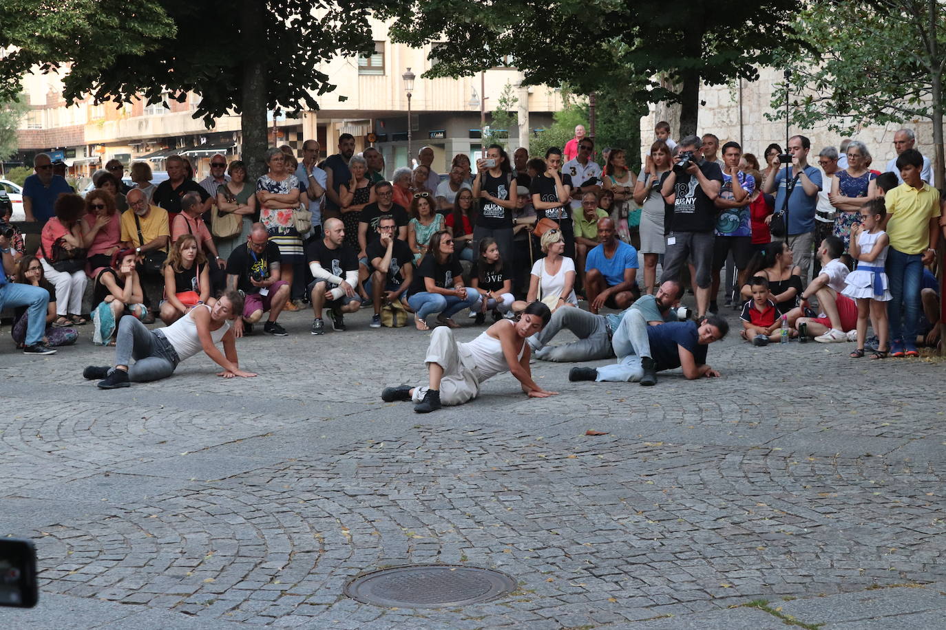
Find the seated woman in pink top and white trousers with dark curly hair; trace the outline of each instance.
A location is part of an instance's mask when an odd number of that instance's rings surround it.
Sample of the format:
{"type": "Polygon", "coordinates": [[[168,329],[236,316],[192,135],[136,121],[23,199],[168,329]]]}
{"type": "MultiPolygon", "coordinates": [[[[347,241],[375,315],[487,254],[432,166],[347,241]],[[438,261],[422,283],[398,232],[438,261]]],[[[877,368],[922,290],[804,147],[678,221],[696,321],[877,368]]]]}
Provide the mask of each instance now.
{"type": "Polygon", "coordinates": [[[56,199],[54,210],[56,216],[46,222],[40,234],[41,246],[36,257],[43,263],[46,280],[56,287],[56,314],[59,316],[54,323],[67,326],[71,322],[81,326],[89,321],[81,315],[82,294],[89,277],[85,275],[84,269],[72,273],[57,271],[46,258],[53,255],[53,246],[57,242],[67,250],[82,247],[79,216],[85,212],[85,200],[78,195],[63,194],[56,199]]]}

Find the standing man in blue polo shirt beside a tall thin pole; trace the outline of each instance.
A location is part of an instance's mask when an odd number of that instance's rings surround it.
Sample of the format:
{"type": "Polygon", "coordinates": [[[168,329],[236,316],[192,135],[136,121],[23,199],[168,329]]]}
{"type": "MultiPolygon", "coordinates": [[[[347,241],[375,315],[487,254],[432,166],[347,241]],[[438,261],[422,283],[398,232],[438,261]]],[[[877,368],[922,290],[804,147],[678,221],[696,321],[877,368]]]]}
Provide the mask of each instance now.
{"type": "Polygon", "coordinates": [[[773,156],[762,192],[771,195],[777,189],[775,212],[780,214],[785,207],[786,189],[788,196],[788,233],[782,237],[792,248],[795,264],[801,268],[801,283],[808,280],[808,269],[812,265],[812,249],[815,246],[815,209],[818,206],[818,191],[821,190],[821,171],[808,164],[808,152],[812,143],[805,136],[793,136],[788,141],[788,152],[792,155],[791,169],[780,164],[779,156],[773,156]],[[779,168],[781,166],[781,168],[779,168]],[[785,171],[789,170],[788,178],[785,171]]]}

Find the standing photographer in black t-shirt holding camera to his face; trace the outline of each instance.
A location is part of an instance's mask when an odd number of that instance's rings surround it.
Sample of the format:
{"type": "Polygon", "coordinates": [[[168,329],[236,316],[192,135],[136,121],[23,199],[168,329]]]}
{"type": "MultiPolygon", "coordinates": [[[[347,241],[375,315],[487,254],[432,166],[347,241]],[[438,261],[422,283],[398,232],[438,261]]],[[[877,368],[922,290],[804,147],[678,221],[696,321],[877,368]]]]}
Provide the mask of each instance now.
{"type": "Polygon", "coordinates": [[[680,141],[681,154],[692,152],[690,165],[684,172],[670,171],[660,189],[664,200],[674,206],[667,233],[667,249],[663,255],[663,276],[660,281],[679,280],[688,259],[696,266],[693,279],[696,293],[696,315],[702,318],[710,307],[710,283],[713,229],[716,223],[714,201],[723,185],[719,164],[703,160],[703,141],[688,136],[680,141]]]}

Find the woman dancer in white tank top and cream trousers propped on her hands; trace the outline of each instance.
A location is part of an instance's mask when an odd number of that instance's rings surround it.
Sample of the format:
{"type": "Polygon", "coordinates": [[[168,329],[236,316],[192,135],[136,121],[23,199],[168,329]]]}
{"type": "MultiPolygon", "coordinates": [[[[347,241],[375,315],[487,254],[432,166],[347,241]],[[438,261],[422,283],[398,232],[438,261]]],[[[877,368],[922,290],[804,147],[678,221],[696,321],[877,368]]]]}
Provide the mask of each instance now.
{"type": "Polygon", "coordinates": [[[529,368],[527,337],[542,330],[552,318],[549,307],[531,302],[517,320],[500,319],[467,343],[457,343],[447,326],[434,329],[424,362],[429,386],[386,387],[381,399],[413,400],[414,411],[426,414],[442,405],[463,404],[480,394],[480,383],[502,372],[512,372],[529,398],[547,398],[558,392],[539,387],[529,368]]]}

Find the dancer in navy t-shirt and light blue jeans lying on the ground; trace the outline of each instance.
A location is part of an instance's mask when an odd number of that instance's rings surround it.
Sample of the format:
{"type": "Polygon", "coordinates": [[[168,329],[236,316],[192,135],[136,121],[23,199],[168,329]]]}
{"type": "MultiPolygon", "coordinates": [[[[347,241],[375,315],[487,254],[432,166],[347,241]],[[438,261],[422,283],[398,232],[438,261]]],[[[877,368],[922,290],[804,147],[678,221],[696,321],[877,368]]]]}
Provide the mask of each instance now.
{"type": "Polygon", "coordinates": [[[674,367],[682,367],[688,380],[719,376],[719,372],[706,363],[707,346],[729,332],[727,321],[719,315],[704,317],[698,324],[684,321],[648,326],[639,311],[631,311],[624,315],[621,328],[628,343],[621,348],[615,344],[615,354],[620,361],[597,369],[572,367],[569,381],[653,385],[657,383],[658,371],[674,367]]]}

